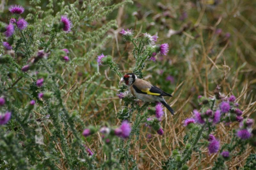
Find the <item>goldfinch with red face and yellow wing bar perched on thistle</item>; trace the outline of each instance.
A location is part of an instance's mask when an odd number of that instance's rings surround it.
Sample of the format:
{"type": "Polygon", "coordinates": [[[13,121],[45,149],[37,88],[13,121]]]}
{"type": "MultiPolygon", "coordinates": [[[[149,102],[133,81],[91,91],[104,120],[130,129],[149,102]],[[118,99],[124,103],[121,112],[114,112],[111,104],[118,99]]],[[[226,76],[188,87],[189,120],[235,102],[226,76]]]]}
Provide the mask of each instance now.
{"type": "Polygon", "coordinates": [[[143,102],[161,102],[168,111],[174,114],[172,107],[170,107],[163,98],[172,97],[169,93],[164,92],[162,89],[153,86],[143,79],[138,79],[134,73],[125,74],[124,77],[120,79],[119,84],[122,84],[122,82],[125,82],[134,97],[143,100],[143,102]]]}

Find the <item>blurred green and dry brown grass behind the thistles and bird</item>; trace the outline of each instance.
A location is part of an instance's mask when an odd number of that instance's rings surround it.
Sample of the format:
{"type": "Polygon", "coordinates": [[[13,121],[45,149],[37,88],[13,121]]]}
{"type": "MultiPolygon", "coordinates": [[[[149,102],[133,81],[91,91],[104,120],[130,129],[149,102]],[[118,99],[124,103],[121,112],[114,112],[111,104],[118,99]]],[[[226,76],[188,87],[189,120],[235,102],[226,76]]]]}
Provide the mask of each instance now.
{"type": "MultiPolygon", "coordinates": [[[[111,6],[121,2],[114,0],[106,4],[111,6]]],[[[52,3],[52,15],[61,10],[56,3],[58,2],[52,3]]],[[[68,3],[72,4],[74,1],[65,1],[65,4],[68,3]]],[[[29,1],[2,0],[2,22],[8,23],[8,6],[11,4],[20,4],[25,7],[26,14],[29,13],[29,1]]],[[[44,0],[37,5],[41,6],[40,10],[46,10],[48,4],[49,1],[44,0]]],[[[104,5],[101,3],[101,8],[104,5]]],[[[84,123],[83,126],[77,124],[77,130],[82,131],[82,127],[86,125],[115,126],[120,123],[117,117],[118,111],[122,109],[122,100],[116,97],[120,77],[107,66],[99,67],[95,58],[101,53],[109,54],[123,73],[131,72],[134,64],[132,44],[122,41],[119,34],[122,28],[132,29],[135,36],[140,33],[156,34],[159,36],[158,43],[170,45],[167,56],[159,56],[156,62],[147,61],[143,79],[172,93],[173,98],[166,98],[166,101],[176,114],[171,116],[166,112],[163,137],[154,134],[148,140],[147,128],[141,129],[143,135],[131,148],[131,155],[140,169],[160,169],[172,150],[182,146],[182,121],[191,115],[193,109],[198,109],[198,95],[213,96],[217,85],[225,95],[233,94],[238,98],[241,109],[244,109],[244,116],[255,118],[255,8],[256,1],[247,0],[141,0],[118,6],[113,12],[99,19],[95,13],[88,12],[81,20],[72,20],[76,31],[73,29],[65,47],[58,44],[58,48],[69,49],[70,59],[73,61],[57,71],[65,80],[61,90],[65,93],[63,100],[68,111],[77,111],[84,123]],[[112,24],[107,24],[109,21],[112,24]],[[103,29],[90,34],[100,27],[103,29]],[[88,81],[92,76],[94,80],[88,81]],[[85,86],[84,83],[88,84],[85,86]]],[[[47,16],[47,13],[42,15],[47,16]]],[[[33,22],[33,19],[28,22],[33,22]]],[[[0,48],[3,51],[3,47],[0,48]]],[[[223,143],[228,142],[223,132],[228,129],[224,126],[218,129],[218,137],[223,143]]],[[[97,153],[100,163],[104,157],[100,137],[95,135],[85,139],[85,143],[97,153]]],[[[232,159],[229,162],[230,169],[243,166],[244,157],[250,152],[255,150],[248,148],[245,155],[232,159]]],[[[213,161],[212,157],[214,155],[202,158],[202,168],[208,167],[209,162],[213,161]]],[[[195,168],[196,160],[195,153],[189,162],[191,169],[195,168]]]]}

